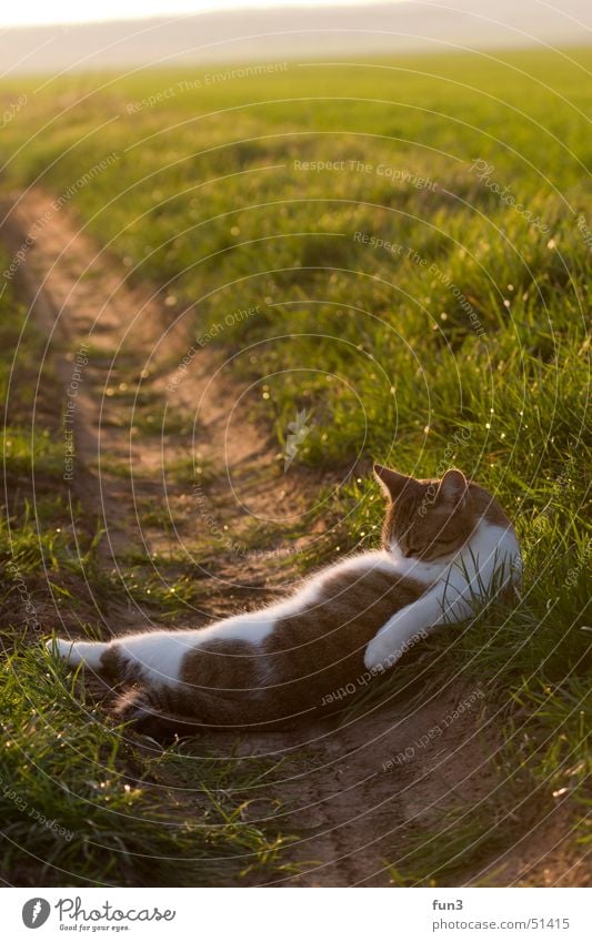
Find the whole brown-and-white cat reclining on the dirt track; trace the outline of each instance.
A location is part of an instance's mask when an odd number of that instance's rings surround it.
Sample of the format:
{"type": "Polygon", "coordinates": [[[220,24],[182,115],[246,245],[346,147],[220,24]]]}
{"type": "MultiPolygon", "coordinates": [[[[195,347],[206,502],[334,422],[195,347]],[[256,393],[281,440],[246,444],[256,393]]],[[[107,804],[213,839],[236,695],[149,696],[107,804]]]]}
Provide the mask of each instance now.
{"type": "MultiPolygon", "coordinates": [[[[109,676],[117,713],[142,731],[270,729],[312,720],[444,622],[520,579],[498,502],[462,472],[417,480],[374,466],[388,509],[382,548],[321,569],[287,599],[204,628],[109,642],[52,639],[69,665],[109,676]],[[333,697],[334,695],[334,697],[333,697]]],[[[367,681],[365,681],[367,682],[367,681]]]]}

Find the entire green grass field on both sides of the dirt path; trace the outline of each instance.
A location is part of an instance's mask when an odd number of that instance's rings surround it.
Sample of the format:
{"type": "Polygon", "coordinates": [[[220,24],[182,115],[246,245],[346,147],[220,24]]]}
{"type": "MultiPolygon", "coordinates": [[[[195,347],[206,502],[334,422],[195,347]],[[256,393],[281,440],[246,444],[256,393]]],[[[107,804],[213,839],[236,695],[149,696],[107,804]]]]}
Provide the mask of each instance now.
{"type": "MultiPolygon", "coordinates": [[[[468,871],[486,883],[492,862],[558,809],[569,853],[589,847],[591,68],[592,52],[566,50],[28,80],[2,130],[4,196],[41,184],[131,285],[157,285],[171,320],[184,312],[197,345],[232,356],[252,383],[253,421],[279,452],[305,411],[297,465],[340,486],[335,528],[302,554],[302,569],[375,545],[372,458],[419,477],[460,466],[515,520],[521,599],[485,610],[456,642],[430,640],[421,660],[427,688],[462,677],[486,690],[501,731],[496,786],[393,847],[398,884],[445,885],[468,871]]],[[[23,85],[0,92],[16,101],[23,85]]],[[[179,827],[163,827],[183,747],[154,756],[132,742],[130,777],[117,731],[88,721],[92,698],[81,706],[77,681],[56,679],[31,645],[56,621],[32,624],[19,578],[31,610],[51,620],[56,591],[73,610],[82,570],[98,587],[106,575],[93,528],[73,547],[57,526],[60,415],[41,404],[31,434],[44,338],[23,326],[10,264],[4,252],[4,879],[271,879],[282,839],[241,814],[241,789],[261,769],[201,759],[192,783],[203,819],[183,818],[178,798],[179,827]],[[71,692],[57,700],[58,681],[71,692]],[[89,763],[102,778],[89,780],[89,763]],[[64,843],[46,827],[40,839],[31,809],[76,837],[64,843]]],[[[148,421],[139,434],[152,434],[148,421]]],[[[141,556],[136,565],[141,587],[141,556]]],[[[183,605],[178,596],[181,619],[183,605]]],[[[403,665],[364,703],[404,696],[415,670],[403,665]]]]}

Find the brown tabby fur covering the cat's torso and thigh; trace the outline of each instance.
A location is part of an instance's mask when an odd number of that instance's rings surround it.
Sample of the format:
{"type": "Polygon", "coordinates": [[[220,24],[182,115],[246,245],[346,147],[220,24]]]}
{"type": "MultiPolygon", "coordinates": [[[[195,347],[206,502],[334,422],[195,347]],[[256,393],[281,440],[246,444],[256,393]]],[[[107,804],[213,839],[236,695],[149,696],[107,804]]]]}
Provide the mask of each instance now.
{"type": "Polygon", "coordinates": [[[279,619],[261,645],[228,639],[194,648],[183,658],[180,687],[147,691],[150,708],[172,726],[179,725],[174,715],[194,717],[194,731],[312,719],[342,706],[338,693],[345,686],[362,689],[370,679],[368,642],[424,588],[371,563],[355,578],[337,573],[314,604],[279,619]]]}

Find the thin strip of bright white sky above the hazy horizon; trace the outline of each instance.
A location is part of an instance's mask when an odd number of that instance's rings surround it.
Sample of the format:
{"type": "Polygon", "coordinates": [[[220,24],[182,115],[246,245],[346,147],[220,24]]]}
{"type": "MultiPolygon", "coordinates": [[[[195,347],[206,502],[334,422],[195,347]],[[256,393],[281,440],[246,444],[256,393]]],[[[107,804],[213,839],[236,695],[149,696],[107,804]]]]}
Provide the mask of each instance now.
{"type": "MultiPolygon", "coordinates": [[[[180,13],[204,13],[219,10],[265,9],[269,7],[363,7],[375,0],[26,0],[24,3],[0,3],[0,26],[38,26],[40,23],[92,22],[133,17],[158,17],[180,13]]],[[[392,0],[391,0],[392,2],[392,0]]],[[[395,0],[397,2],[397,0],[395,0]]]]}

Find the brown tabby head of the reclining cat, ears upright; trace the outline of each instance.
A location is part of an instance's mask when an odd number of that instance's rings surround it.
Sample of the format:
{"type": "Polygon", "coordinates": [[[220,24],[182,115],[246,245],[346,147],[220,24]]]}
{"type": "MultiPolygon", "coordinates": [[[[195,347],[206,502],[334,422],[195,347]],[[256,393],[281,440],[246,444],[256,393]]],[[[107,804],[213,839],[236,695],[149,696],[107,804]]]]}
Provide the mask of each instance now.
{"type": "Polygon", "coordinates": [[[374,465],[389,499],[382,540],[384,549],[431,560],[450,556],[468,540],[475,526],[469,483],[451,468],[441,480],[418,480],[374,465]]]}

